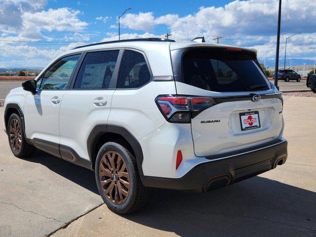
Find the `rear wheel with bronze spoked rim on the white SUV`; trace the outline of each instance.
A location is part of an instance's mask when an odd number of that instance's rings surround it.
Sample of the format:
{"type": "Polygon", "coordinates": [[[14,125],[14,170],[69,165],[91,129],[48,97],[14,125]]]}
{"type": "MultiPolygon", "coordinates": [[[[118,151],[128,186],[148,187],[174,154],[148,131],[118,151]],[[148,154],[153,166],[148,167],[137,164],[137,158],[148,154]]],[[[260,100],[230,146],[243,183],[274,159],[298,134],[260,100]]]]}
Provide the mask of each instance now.
{"type": "Polygon", "coordinates": [[[140,209],[151,195],[151,188],[144,187],[140,180],[134,156],[115,142],[100,148],[95,162],[95,179],[102,199],[118,214],[140,209]]]}

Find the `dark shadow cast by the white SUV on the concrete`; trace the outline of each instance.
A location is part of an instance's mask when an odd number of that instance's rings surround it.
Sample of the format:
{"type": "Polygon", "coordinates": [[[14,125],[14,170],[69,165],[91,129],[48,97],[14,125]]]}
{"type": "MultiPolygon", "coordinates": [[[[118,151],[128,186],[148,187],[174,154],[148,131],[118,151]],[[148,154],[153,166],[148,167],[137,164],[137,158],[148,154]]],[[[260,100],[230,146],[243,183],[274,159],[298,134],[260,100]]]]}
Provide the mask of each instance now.
{"type": "MultiPolygon", "coordinates": [[[[26,160],[98,194],[92,171],[41,151],[34,157],[26,160]]],[[[315,205],[314,192],[256,176],[204,194],[154,189],[145,207],[122,217],[184,237],[315,237],[315,205]]]]}

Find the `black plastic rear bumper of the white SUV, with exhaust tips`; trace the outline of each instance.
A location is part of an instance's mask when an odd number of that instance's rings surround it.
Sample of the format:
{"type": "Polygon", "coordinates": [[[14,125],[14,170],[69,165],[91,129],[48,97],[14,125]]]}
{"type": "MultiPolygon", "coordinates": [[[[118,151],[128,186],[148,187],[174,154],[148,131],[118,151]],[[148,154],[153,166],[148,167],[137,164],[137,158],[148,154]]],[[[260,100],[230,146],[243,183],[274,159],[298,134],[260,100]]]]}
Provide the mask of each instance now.
{"type": "Polygon", "coordinates": [[[229,158],[201,163],[181,178],[144,176],[144,186],[195,192],[225,187],[256,176],[283,164],[287,158],[287,141],[253,152],[236,154],[229,158]]]}

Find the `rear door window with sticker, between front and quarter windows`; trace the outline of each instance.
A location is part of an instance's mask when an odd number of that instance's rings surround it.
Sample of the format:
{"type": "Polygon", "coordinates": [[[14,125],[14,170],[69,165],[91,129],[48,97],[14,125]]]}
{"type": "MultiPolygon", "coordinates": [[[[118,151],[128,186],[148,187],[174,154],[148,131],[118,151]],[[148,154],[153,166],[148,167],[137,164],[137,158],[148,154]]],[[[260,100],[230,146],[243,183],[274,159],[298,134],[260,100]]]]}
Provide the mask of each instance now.
{"type": "Polygon", "coordinates": [[[74,88],[109,88],[117,59],[118,50],[87,53],[80,66],[74,88]]]}

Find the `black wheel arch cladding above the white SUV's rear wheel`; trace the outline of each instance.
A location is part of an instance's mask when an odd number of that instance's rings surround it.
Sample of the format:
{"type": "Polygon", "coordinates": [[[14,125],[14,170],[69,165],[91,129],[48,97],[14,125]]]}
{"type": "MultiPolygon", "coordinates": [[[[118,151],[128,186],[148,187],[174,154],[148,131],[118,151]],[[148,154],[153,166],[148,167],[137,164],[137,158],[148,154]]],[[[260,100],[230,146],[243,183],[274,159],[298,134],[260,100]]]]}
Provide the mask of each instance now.
{"type": "MultiPolygon", "coordinates": [[[[136,158],[138,172],[142,179],[144,176],[142,169],[143,151],[137,139],[125,127],[111,124],[99,124],[91,130],[87,139],[87,149],[89,158],[93,162],[93,167],[98,154],[97,148],[100,146],[100,141],[103,142],[103,144],[109,141],[117,141],[118,143],[123,142],[121,145],[127,146],[127,149],[131,149],[130,152],[136,158]]],[[[101,144],[101,146],[103,144],[101,144]]]]}

